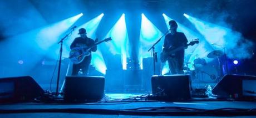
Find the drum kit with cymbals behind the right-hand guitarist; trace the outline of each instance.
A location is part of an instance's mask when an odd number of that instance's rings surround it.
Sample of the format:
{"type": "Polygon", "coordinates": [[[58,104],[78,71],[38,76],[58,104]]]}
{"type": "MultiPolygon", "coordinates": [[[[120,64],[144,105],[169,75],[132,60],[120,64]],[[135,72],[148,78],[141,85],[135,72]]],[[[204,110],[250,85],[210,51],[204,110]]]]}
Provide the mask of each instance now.
{"type": "Polygon", "coordinates": [[[191,75],[191,79],[194,82],[198,83],[218,83],[220,76],[221,76],[221,63],[220,63],[220,57],[224,55],[221,50],[214,50],[213,52],[210,52],[207,57],[214,59],[218,59],[218,66],[214,66],[211,64],[207,64],[204,58],[196,58],[193,61],[193,68],[194,70],[190,70],[188,68],[188,64],[186,63],[184,70],[185,73],[191,75]]]}

